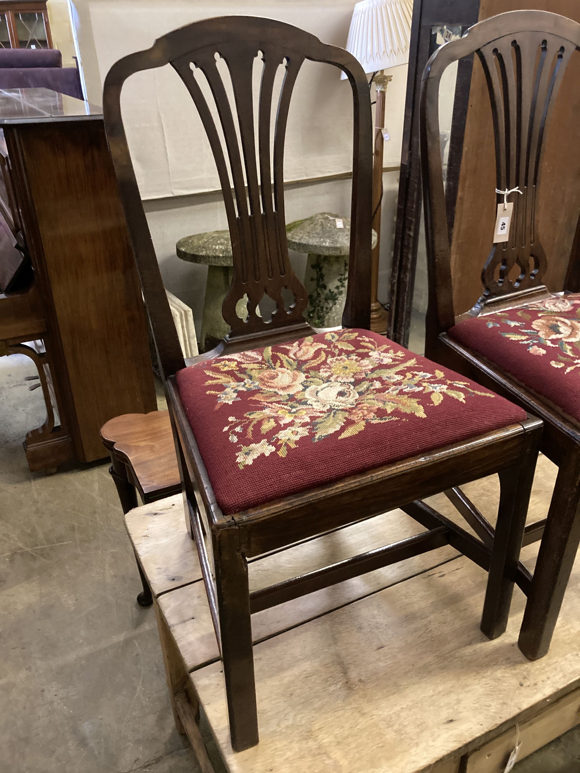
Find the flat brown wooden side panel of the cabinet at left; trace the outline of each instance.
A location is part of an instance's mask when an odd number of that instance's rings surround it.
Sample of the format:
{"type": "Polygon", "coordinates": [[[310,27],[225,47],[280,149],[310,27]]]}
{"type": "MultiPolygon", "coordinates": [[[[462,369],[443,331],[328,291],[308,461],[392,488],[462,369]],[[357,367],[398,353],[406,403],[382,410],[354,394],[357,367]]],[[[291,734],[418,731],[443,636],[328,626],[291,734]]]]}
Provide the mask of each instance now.
{"type": "Polygon", "coordinates": [[[125,217],[101,121],[17,131],[43,253],[36,261],[46,267],[70,384],[77,454],[93,461],[105,453],[99,430],[106,421],[156,407],[125,217]]]}

